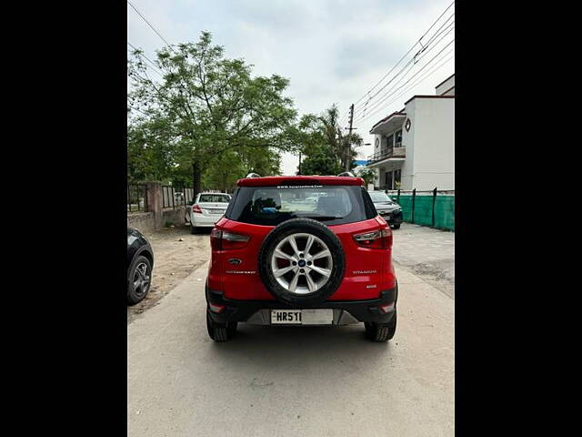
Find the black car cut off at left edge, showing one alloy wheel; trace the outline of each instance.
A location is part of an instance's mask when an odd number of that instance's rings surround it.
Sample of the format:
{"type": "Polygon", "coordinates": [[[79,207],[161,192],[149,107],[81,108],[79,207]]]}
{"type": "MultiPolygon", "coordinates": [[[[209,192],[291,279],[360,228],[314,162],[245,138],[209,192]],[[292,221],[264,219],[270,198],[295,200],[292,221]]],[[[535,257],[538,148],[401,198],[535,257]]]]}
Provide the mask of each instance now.
{"type": "Polygon", "coordinates": [[[127,305],[143,300],[152,285],[154,250],[146,237],[127,228],[127,305]]]}

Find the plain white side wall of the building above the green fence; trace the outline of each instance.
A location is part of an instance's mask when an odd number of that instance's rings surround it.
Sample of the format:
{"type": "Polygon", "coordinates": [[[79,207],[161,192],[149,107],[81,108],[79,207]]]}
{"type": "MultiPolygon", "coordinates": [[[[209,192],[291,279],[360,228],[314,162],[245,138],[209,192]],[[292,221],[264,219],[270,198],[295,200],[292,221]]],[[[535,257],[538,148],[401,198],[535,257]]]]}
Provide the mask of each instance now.
{"type": "Polygon", "coordinates": [[[417,97],[406,114],[412,125],[405,129],[402,189],[455,189],[455,99],[417,97]]]}

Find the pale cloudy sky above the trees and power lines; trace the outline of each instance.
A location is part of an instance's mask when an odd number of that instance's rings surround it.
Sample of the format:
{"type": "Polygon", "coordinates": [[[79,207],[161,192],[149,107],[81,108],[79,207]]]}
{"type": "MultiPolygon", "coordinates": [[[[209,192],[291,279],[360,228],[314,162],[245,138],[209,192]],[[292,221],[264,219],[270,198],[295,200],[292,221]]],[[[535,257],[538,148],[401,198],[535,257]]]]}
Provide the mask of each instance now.
{"type": "MultiPolygon", "coordinates": [[[[195,42],[200,32],[209,31],[214,43],[225,47],[226,57],[245,58],[254,66],[256,76],[277,74],[288,78],[286,95],[293,98],[300,117],[320,114],[334,103],[342,116],[346,114],[350,104],[395,66],[451,0],[131,2],[170,44],[195,42]]],[[[127,41],[142,48],[150,59],[165,46],[130,5],[127,41]]],[[[403,108],[414,95],[434,95],[435,86],[453,73],[454,59],[396,101],[386,100],[378,107],[382,110],[376,117],[356,122],[356,132],[365,143],[373,143],[369,130],[378,120],[403,108]]],[[[372,148],[358,147],[358,158],[366,158],[372,148]]],[[[295,174],[298,161],[298,156],[284,154],[283,174],[295,174]]]]}

